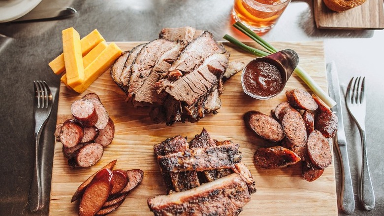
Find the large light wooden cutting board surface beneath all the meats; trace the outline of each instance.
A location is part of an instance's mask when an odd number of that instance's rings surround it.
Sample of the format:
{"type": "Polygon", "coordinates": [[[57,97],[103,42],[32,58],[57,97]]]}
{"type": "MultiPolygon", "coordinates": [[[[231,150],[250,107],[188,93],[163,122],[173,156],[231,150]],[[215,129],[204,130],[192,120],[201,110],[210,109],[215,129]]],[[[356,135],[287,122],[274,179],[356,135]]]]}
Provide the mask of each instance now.
{"type": "MultiPolygon", "coordinates": [[[[129,50],[139,43],[121,42],[117,44],[123,50],[129,50]]],[[[321,41],[273,44],[278,49],[291,48],[297,51],[300,56],[299,64],[310,73],[322,89],[327,91],[324,51],[321,41]]],[[[255,43],[250,43],[250,45],[256,46],[255,43]]],[[[230,61],[248,62],[255,57],[240,49],[235,49],[227,43],[225,43],[225,48],[231,53],[230,61]]],[[[307,89],[296,75],[292,75],[288,80],[286,89],[288,88],[307,89]]],[[[165,124],[153,124],[148,115],[148,108],[136,109],[126,103],[125,94],[112,81],[108,71],[81,95],[68,90],[63,83],[61,84],[58,123],[71,117],[72,102],[90,92],[95,92],[100,97],[115,122],[115,138],[112,144],[105,148],[103,157],[95,166],[82,169],[72,169],[68,166],[62,153],[62,144],[56,142],[50,215],[76,215],[79,203],[78,201],[70,203],[70,199],[77,187],[114,159],[118,159],[115,169],[141,169],[144,171],[144,180],[129,193],[125,202],[111,215],[153,215],[147,206],[147,199],[166,192],[154,156],[153,145],[179,134],[187,136],[190,141],[204,127],[213,139],[220,141],[229,139],[240,144],[243,162],[251,170],[256,181],[257,192],[252,194],[252,200],[243,208],[241,216],[337,215],[333,163],[325,169],[324,174],[318,180],[313,182],[302,180],[301,167],[298,164],[283,169],[267,170],[256,168],[253,163],[256,148],[258,145],[266,143],[257,139],[245,127],[243,114],[252,109],[269,114],[272,108],[286,100],[284,93],[271,100],[254,100],[243,92],[240,73],[238,73],[224,83],[224,93],[221,95],[223,104],[218,114],[208,114],[204,119],[193,124],[178,122],[172,126],[166,126],[165,124]]]]}

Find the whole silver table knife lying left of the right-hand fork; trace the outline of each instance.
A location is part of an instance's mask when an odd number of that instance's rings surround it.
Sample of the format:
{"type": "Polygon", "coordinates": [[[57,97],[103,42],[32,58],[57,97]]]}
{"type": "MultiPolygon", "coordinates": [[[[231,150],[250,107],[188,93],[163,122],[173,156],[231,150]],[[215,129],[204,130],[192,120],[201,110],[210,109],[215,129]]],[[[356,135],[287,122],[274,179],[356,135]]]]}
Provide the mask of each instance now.
{"type": "Polygon", "coordinates": [[[345,214],[351,215],[354,212],[354,196],[350,164],[348,161],[347,142],[344,132],[339,78],[334,62],[327,64],[327,81],[329,87],[329,96],[336,102],[336,106],[332,108],[332,112],[338,118],[337,133],[333,138],[333,144],[336,147],[339,156],[342,177],[340,189],[340,209],[345,214]]]}

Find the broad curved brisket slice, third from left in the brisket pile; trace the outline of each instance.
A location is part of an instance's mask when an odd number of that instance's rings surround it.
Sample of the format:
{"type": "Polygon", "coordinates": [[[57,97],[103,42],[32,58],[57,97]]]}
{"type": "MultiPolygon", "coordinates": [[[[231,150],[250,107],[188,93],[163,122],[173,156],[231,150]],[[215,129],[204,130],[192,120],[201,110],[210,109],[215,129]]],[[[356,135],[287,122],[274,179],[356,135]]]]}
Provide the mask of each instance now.
{"type": "Polygon", "coordinates": [[[131,65],[132,74],[129,78],[127,101],[130,101],[140,90],[160,56],[170,50],[176,43],[160,38],[147,43],[140,50],[131,65]]]}

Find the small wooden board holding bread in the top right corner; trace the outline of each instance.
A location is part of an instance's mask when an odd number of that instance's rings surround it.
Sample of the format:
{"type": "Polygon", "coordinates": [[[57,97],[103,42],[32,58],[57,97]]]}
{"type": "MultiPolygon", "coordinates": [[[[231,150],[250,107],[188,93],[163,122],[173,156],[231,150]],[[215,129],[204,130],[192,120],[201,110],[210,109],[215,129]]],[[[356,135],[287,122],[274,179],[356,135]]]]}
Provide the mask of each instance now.
{"type": "Polygon", "coordinates": [[[366,0],[342,12],[330,10],[323,0],[314,0],[314,13],[319,29],[384,29],[383,0],[366,0]]]}

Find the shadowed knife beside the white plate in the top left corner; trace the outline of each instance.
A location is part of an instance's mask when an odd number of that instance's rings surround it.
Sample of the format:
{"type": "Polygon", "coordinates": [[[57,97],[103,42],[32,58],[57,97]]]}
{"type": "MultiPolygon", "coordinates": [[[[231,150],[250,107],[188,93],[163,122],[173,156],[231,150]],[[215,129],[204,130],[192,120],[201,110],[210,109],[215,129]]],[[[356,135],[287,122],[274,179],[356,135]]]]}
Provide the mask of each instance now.
{"type": "Polygon", "coordinates": [[[72,7],[50,8],[47,10],[32,11],[12,23],[58,20],[73,16],[77,13],[72,7]]]}

